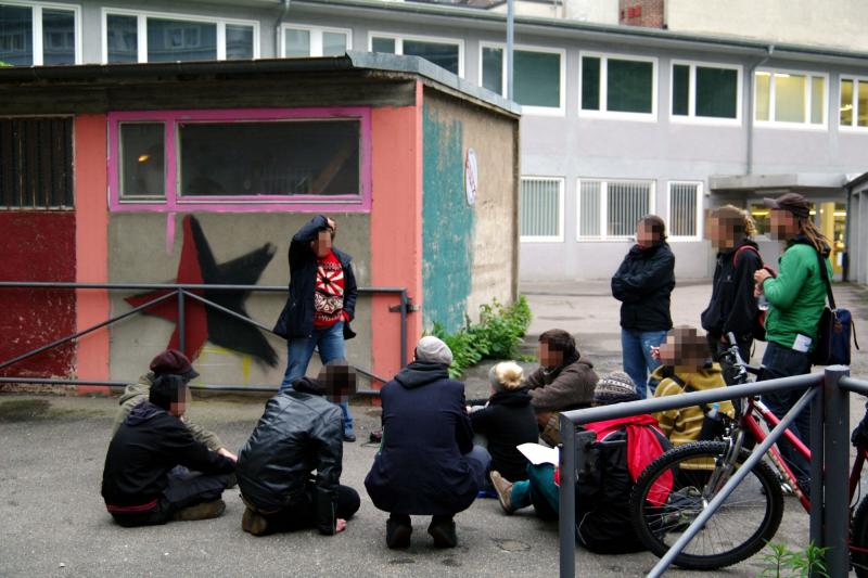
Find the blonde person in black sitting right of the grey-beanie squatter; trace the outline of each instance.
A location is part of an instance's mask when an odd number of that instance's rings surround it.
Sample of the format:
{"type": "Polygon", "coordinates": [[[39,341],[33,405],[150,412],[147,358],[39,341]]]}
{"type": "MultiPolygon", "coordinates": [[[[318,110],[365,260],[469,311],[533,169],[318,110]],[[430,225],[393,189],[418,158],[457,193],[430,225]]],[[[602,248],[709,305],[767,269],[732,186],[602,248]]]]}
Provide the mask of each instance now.
{"type": "Polygon", "coordinates": [[[511,481],[527,479],[527,460],[515,449],[539,439],[531,396],[522,387],[524,372],[514,361],[503,361],[488,371],[492,397],[488,403],[472,411],[473,433],[484,436],[492,454],[492,470],[511,481]]]}

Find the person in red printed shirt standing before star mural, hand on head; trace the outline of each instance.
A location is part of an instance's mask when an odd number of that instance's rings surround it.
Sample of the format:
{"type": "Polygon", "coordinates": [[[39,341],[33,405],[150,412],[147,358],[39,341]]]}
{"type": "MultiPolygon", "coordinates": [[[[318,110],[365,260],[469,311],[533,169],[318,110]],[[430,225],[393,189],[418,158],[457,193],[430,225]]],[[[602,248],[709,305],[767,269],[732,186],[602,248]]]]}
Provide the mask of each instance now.
{"type": "MultiPolygon", "coordinates": [[[[322,364],[344,359],[344,341],[356,336],[349,326],[356,313],[358,288],[353,257],[333,245],[337,223],[318,215],[290,243],[290,295],[273,332],[286,339],[286,372],[280,393],[292,388],[319,350],[322,364]]],[[[346,401],[344,441],[355,441],[353,415],[346,401]]]]}

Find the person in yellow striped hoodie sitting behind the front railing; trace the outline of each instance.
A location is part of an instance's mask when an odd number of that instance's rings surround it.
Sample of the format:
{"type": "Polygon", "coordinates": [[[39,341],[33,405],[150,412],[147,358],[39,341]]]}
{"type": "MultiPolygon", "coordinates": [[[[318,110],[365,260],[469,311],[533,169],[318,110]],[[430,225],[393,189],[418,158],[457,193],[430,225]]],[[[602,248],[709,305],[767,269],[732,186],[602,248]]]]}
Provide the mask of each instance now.
{"type": "MultiPolygon", "coordinates": [[[[654,377],[660,382],[654,397],[726,387],[720,365],[711,360],[707,339],[698,335],[695,327],[674,327],[654,355],[662,363],[654,370],[654,377]]],[[[654,416],[660,422],[660,429],[673,446],[678,447],[700,438],[713,439],[714,415],[711,422],[706,419],[712,413],[733,418],[736,410],[730,401],[722,401],[711,407],[703,404],[661,411],[654,416]]]]}

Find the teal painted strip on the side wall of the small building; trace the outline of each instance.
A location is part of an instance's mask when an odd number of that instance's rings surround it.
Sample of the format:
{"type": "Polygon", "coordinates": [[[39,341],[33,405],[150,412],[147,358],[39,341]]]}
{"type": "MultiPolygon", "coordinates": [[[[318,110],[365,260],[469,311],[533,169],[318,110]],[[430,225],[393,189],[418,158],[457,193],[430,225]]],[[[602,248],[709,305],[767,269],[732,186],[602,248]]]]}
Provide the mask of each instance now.
{"type": "Polygon", "coordinates": [[[423,110],[423,323],[454,332],[464,323],[473,284],[475,213],[464,193],[463,125],[423,110]]]}

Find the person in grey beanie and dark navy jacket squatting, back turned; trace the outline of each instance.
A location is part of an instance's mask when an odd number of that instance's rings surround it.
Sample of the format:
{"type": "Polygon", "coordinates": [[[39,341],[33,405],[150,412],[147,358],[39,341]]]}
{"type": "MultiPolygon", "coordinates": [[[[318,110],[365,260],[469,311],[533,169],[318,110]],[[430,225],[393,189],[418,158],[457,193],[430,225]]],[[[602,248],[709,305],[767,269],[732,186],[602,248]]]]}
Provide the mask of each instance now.
{"type": "Polygon", "coordinates": [[[492,461],[473,445],[464,384],[449,378],[452,352],[441,339],[422,337],[414,360],[380,390],[383,440],[365,487],[390,513],[386,545],[408,548],[411,515],[432,516],[436,548],[455,548],[454,517],[470,508],[492,461]]]}

